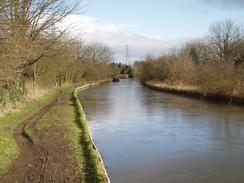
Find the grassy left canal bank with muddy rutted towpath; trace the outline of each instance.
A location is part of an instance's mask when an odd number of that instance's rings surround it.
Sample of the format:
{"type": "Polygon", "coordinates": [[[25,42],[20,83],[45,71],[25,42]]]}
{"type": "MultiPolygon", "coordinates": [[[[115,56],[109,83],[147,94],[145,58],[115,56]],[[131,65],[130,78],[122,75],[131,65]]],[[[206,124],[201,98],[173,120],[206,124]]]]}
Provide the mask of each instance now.
{"type": "Polygon", "coordinates": [[[72,86],[57,88],[0,118],[13,143],[0,142],[0,182],[108,182],[75,93],[72,86]]]}

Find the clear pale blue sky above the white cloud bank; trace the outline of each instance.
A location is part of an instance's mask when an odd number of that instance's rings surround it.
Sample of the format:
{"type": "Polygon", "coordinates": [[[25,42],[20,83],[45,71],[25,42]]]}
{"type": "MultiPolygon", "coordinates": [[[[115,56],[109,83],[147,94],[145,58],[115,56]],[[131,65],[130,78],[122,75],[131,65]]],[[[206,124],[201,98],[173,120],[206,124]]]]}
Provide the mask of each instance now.
{"type": "Polygon", "coordinates": [[[90,0],[87,15],[107,22],[127,22],[145,34],[181,38],[204,35],[216,21],[244,20],[244,8],[227,5],[204,0],[90,0]]]}

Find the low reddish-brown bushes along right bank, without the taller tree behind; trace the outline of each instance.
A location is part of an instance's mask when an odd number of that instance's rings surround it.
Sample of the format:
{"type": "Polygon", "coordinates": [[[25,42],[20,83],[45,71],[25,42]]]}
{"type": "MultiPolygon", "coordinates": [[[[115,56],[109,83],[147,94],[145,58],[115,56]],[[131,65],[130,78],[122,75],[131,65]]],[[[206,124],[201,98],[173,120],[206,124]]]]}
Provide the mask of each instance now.
{"type": "Polygon", "coordinates": [[[135,64],[143,82],[160,81],[172,86],[197,87],[203,94],[244,96],[244,68],[229,61],[195,64],[187,56],[164,56],[135,64]]]}

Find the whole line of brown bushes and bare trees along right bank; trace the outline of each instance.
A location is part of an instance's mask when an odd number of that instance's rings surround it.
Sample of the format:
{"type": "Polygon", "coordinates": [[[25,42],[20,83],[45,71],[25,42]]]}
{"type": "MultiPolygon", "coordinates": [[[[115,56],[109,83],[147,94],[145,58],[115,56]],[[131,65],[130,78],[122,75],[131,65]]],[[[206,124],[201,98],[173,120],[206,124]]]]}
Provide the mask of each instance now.
{"type": "Polygon", "coordinates": [[[135,63],[143,82],[191,86],[204,94],[244,96],[244,32],[232,20],[210,26],[207,36],[135,63]]]}

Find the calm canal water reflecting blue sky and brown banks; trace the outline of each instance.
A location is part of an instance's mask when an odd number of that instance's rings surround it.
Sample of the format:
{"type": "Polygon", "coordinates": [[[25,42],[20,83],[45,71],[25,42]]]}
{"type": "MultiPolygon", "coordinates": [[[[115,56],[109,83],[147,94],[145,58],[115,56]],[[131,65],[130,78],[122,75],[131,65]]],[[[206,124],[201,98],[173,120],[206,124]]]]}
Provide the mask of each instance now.
{"type": "Polygon", "coordinates": [[[243,183],[244,107],[134,80],[80,92],[113,183],[243,183]]]}

